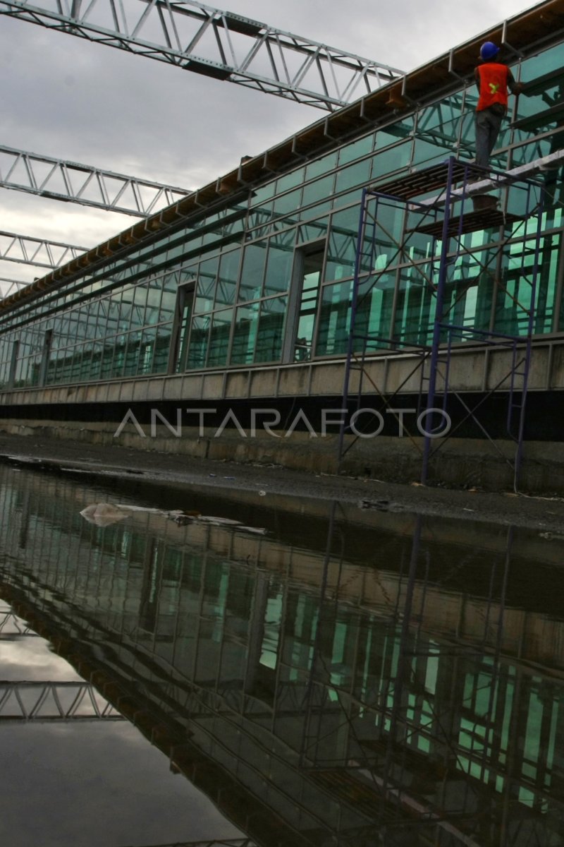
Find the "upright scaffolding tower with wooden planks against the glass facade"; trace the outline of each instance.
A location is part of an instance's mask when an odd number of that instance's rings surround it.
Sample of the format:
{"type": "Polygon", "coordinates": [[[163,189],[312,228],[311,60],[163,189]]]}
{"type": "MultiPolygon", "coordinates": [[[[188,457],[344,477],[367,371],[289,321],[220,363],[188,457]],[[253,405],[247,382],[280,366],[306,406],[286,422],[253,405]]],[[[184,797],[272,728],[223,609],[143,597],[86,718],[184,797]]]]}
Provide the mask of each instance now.
{"type": "MultiPolygon", "coordinates": [[[[409,411],[416,411],[421,422],[418,426],[423,435],[423,483],[428,479],[430,458],[441,449],[446,437],[457,432],[460,435],[461,428],[470,422],[477,427],[474,435],[487,437],[501,453],[480,414],[485,401],[503,390],[507,398],[505,430],[515,443],[515,454],[512,461],[501,455],[510,461],[517,484],[543,219],[542,183],[534,178],[539,168],[533,163],[512,172],[494,173],[486,180],[481,169],[450,158],[374,189],[364,189],[342,407],[350,411],[352,405],[359,411],[363,393],[368,390],[381,397],[386,411],[392,412],[400,428],[412,435],[400,410],[393,407],[402,406],[402,395],[408,391],[416,394],[417,409],[409,411]],[[497,208],[496,197],[485,195],[491,189],[504,190],[501,209],[497,208]],[[429,197],[437,191],[438,194],[429,197]],[[472,199],[474,210],[469,208],[472,199]],[[396,236],[393,230],[399,216],[403,222],[402,235],[396,236]],[[466,235],[488,230],[491,235],[479,246],[463,243],[466,235]],[[504,285],[501,280],[503,250],[516,238],[523,238],[523,250],[519,268],[513,267],[517,259],[511,256],[512,271],[517,271],[519,280],[526,280],[526,298],[517,296],[517,288],[511,291],[511,285],[504,285]],[[470,263],[474,264],[474,276],[468,274],[470,263]],[[402,277],[402,274],[407,275],[402,277]],[[373,321],[370,301],[375,292],[391,286],[391,279],[397,300],[404,298],[407,319],[402,326],[395,324],[386,334],[370,325],[373,321]],[[494,297],[504,296],[512,303],[512,323],[507,331],[494,329],[491,302],[487,314],[479,313],[478,293],[474,295],[474,312],[466,313],[468,291],[476,286],[481,290],[484,284],[491,286],[494,297]],[[418,313],[419,320],[410,314],[412,309],[418,313]],[[454,347],[468,341],[490,353],[502,354],[499,359],[502,373],[496,374],[493,384],[486,385],[473,401],[463,396],[452,378],[454,347]],[[394,385],[392,392],[386,388],[380,390],[370,368],[375,361],[373,354],[385,351],[396,359],[404,358],[407,364],[400,384],[394,385]],[[353,388],[354,371],[359,377],[353,388]],[[450,424],[446,423],[449,421],[452,421],[450,431],[450,424]]],[[[397,300],[393,307],[396,310],[397,300]]],[[[499,429],[497,419],[496,429],[499,429]]],[[[358,429],[347,429],[342,424],[340,460],[359,437],[358,429]],[[355,435],[350,435],[346,445],[345,435],[353,431],[355,435]]],[[[413,443],[421,450],[417,442],[413,443]]]]}

